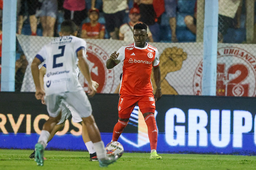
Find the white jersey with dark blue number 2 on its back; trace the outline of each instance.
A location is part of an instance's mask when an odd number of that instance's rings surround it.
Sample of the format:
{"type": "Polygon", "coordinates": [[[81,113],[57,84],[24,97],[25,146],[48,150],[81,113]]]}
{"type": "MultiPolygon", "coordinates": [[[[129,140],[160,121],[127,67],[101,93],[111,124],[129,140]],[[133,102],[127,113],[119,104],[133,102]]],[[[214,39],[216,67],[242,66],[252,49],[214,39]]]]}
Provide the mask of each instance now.
{"type": "Polygon", "coordinates": [[[38,52],[36,57],[47,65],[44,77],[46,96],[83,90],[76,72],[77,52],[81,49],[86,53],[86,41],[70,35],[55,38],[38,52]]]}

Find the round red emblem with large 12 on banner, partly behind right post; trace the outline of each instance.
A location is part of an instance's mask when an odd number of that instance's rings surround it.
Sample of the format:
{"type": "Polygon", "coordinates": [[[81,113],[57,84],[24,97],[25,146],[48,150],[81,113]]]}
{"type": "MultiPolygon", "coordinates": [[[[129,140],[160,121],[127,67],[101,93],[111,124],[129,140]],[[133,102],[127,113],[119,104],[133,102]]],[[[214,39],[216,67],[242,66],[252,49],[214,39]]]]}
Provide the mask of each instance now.
{"type": "MultiPolygon", "coordinates": [[[[255,96],[256,58],[237,47],[222,47],[217,51],[217,96],[255,96]]],[[[194,95],[202,94],[202,61],[194,73],[194,95]]]]}

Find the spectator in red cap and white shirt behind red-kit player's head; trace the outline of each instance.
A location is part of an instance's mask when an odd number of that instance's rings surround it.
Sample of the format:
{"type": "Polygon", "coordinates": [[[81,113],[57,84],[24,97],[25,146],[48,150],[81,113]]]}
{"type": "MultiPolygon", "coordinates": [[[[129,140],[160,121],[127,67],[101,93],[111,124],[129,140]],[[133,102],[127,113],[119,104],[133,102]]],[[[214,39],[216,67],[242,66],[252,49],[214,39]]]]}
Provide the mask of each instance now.
{"type": "MultiPolygon", "coordinates": [[[[130,21],[128,23],[121,25],[119,29],[119,40],[124,40],[128,44],[134,42],[133,26],[137,23],[142,23],[139,21],[140,10],[138,8],[131,8],[129,12],[129,19],[130,21]]],[[[150,42],[153,42],[152,33],[150,32],[149,28],[147,28],[147,33],[148,33],[148,40],[150,42]]]]}

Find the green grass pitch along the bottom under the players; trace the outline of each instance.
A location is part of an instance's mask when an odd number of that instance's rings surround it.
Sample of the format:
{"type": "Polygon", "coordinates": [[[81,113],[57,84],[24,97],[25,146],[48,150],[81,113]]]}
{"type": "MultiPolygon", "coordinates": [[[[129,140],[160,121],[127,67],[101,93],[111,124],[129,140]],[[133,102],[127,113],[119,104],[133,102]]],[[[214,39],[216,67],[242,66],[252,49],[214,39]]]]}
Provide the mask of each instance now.
{"type": "Polygon", "coordinates": [[[100,168],[97,161],[89,161],[88,152],[45,151],[44,166],[37,166],[29,159],[31,150],[0,149],[0,169],[111,169],[111,170],[251,170],[256,169],[255,156],[238,155],[199,155],[199,154],[161,154],[162,160],[150,160],[150,153],[124,153],[114,164],[100,168]]]}

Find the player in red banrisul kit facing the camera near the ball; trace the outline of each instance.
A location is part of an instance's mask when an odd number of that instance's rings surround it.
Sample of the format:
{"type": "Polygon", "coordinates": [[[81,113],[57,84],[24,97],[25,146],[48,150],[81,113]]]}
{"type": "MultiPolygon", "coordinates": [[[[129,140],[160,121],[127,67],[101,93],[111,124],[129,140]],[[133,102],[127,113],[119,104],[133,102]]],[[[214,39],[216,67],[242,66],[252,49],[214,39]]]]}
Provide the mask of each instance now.
{"type": "Polygon", "coordinates": [[[150,159],[162,159],[156,152],[157,127],[154,117],[155,101],[162,96],[158,50],[146,42],[148,34],[145,24],[138,23],[133,30],[135,43],[123,46],[112,53],[106,63],[107,69],[112,69],[120,62],[123,63],[118,103],[119,120],[113,130],[112,141],[118,140],[138,103],[148,128],[150,159]],[[155,95],[150,79],[152,67],[157,88],[155,95]]]}

